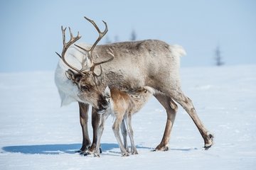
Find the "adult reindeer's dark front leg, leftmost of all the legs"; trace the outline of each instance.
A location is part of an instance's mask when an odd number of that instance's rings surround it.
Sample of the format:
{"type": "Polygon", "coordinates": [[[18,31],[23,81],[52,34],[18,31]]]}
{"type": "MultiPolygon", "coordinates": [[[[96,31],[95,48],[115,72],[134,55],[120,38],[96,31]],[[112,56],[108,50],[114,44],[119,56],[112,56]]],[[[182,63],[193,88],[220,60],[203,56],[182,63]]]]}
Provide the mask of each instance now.
{"type": "Polygon", "coordinates": [[[88,133],[88,110],[89,105],[85,103],[78,103],[79,104],[79,112],[80,112],[80,125],[82,127],[82,147],[78,152],[85,152],[91,145],[90,137],[88,133]]]}

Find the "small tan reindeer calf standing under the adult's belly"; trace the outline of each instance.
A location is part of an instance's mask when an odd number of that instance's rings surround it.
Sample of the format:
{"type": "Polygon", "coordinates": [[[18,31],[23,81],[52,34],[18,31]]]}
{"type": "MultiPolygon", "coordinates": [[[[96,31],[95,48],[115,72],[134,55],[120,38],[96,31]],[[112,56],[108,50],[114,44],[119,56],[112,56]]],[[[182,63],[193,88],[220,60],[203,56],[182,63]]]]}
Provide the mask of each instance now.
{"type": "MultiPolygon", "coordinates": [[[[107,86],[103,97],[107,101],[107,106],[104,109],[98,110],[97,113],[101,115],[100,118],[100,128],[97,134],[97,145],[95,149],[95,157],[100,157],[100,139],[104,130],[105,121],[109,115],[114,115],[114,123],[112,129],[114,136],[117,139],[119,148],[121,150],[122,156],[129,156],[129,148],[127,145],[127,132],[131,142],[131,153],[138,154],[137,149],[134,144],[133,130],[132,130],[132,115],[137,113],[144,103],[149,100],[152,96],[148,90],[142,89],[135,91],[132,94],[124,93],[118,89],[111,89],[107,86]],[[121,126],[122,135],[124,137],[124,145],[122,144],[121,137],[119,135],[119,128],[121,126]]],[[[106,103],[103,103],[106,104],[106,103]]]]}

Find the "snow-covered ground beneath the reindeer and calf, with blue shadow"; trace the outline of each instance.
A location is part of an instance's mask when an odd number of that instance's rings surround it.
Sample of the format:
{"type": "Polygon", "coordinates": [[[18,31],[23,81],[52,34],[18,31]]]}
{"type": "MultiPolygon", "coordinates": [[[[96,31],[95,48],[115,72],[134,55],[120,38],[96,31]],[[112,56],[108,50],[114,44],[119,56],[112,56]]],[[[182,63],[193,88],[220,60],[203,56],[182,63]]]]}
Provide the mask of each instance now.
{"type": "MultiPolygon", "coordinates": [[[[102,156],[82,157],[78,104],[60,108],[53,72],[0,74],[0,169],[255,169],[256,65],[183,68],[183,91],[215,135],[212,148],[179,107],[170,150],[161,141],[166,113],[151,98],[134,115],[138,155],[121,157],[109,118],[102,156]]],[[[90,127],[90,135],[92,128],[90,127]]]]}

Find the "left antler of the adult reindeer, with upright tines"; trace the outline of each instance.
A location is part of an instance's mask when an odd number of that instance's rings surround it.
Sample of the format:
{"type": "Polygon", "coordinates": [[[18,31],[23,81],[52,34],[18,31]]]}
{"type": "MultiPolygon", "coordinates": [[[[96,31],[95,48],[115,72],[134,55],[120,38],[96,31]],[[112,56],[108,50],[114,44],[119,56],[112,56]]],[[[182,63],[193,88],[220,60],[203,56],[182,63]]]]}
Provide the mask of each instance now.
{"type": "Polygon", "coordinates": [[[79,40],[81,38],[81,36],[78,35],[74,38],[73,34],[70,30],[70,27],[68,28],[70,31],[70,40],[68,42],[65,42],[65,30],[66,28],[63,29],[63,26],[61,26],[61,31],[63,33],[63,51],[61,52],[61,55],[58,54],[58,52],[56,52],[56,54],[63,60],[63,62],[68,65],[68,67],[70,67],[71,69],[74,69],[76,72],[80,73],[80,70],[76,69],[75,67],[73,67],[72,65],[68,64],[68,62],[65,60],[65,52],[67,52],[68,47],[70,47],[70,45],[72,45],[73,43],[75,43],[77,40],[79,40]]]}

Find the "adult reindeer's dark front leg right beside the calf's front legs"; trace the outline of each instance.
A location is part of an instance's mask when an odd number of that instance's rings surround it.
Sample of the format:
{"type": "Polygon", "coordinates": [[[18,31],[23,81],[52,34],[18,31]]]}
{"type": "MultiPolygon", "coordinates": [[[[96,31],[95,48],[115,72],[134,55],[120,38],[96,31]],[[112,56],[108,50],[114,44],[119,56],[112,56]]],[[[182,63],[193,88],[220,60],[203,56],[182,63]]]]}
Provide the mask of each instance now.
{"type": "Polygon", "coordinates": [[[100,123],[100,115],[97,113],[95,108],[92,108],[92,130],[93,130],[93,140],[92,145],[89,149],[83,154],[86,156],[87,154],[93,154],[95,152],[95,148],[97,145],[97,131],[100,123]]]}

